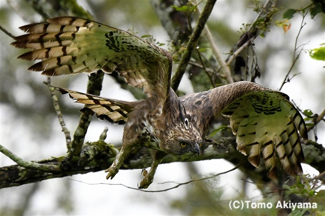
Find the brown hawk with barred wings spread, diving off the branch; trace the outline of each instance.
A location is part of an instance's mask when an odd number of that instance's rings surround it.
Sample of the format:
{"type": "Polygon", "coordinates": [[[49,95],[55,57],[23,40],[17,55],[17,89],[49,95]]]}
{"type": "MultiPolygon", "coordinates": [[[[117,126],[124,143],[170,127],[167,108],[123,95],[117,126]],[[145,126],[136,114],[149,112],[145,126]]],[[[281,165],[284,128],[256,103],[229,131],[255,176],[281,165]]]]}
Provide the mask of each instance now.
{"type": "Polygon", "coordinates": [[[302,173],[299,133],[307,139],[307,130],[285,93],[242,81],[178,97],[170,88],[170,54],[127,31],[74,17],[20,29],[28,33],[12,45],[32,51],[19,58],[41,60],[30,70],[50,76],[117,71],[146,93],[145,99],[128,102],[57,88],[99,118],[125,125],[121,150],[105,170],[107,179],[117,174],[133,147],[145,146],[154,150],[151,169],[139,186],[147,188],[165,155],[187,158],[200,153],[199,145],[219,114],[229,116],[237,149],[255,167],[262,157],[270,178],[277,178],[277,158],[287,173],[302,173]]]}

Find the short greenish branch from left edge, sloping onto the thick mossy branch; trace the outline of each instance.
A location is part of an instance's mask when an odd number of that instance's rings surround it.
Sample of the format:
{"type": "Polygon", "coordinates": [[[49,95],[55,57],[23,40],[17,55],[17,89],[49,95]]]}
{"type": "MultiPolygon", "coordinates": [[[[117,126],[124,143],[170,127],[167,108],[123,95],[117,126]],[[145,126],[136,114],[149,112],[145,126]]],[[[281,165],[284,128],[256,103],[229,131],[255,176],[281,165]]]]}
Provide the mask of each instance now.
{"type": "Polygon", "coordinates": [[[46,172],[60,172],[61,169],[58,166],[55,165],[45,165],[45,164],[39,164],[35,162],[25,161],[19,156],[13,154],[8,149],[6,149],[4,146],[0,145],[0,152],[10,159],[12,159],[14,162],[16,162],[19,166],[22,166],[27,169],[36,169],[36,170],[43,170],[46,172]]]}

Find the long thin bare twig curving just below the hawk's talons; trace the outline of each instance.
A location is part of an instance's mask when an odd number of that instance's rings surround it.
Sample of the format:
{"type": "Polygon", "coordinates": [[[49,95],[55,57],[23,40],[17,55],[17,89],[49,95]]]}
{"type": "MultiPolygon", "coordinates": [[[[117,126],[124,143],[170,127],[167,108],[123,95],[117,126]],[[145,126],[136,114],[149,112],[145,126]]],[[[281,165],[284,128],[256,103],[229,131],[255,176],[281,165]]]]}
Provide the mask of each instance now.
{"type": "Polygon", "coordinates": [[[110,183],[85,183],[85,182],[82,182],[82,181],[78,181],[78,180],[74,180],[74,179],[69,179],[69,180],[72,180],[72,181],[76,181],[76,182],[81,182],[81,183],[84,183],[84,184],[87,184],[87,185],[122,185],[126,188],[129,188],[129,189],[133,189],[133,190],[139,190],[139,191],[143,191],[143,192],[149,192],[149,193],[157,193],[157,192],[164,192],[164,191],[168,191],[168,190],[172,190],[172,189],[175,189],[181,185],[188,185],[192,182],[198,182],[198,181],[204,181],[204,180],[208,180],[208,179],[213,179],[213,178],[216,178],[217,176],[220,176],[220,175],[223,175],[223,174],[226,174],[228,172],[231,172],[235,169],[238,169],[238,167],[241,166],[241,163],[239,163],[237,166],[235,166],[234,168],[230,169],[230,170],[227,170],[225,172],[222,172],[222,173],[218,173],[218,174],[215,174],[213,176],[208,176],[208,177],[205,177],[205,178],[201,178],[201,179],[193,179],[193,180],[190,180],[188,182],[183,182],[183,183],[179,183],[178,185],[175,185],[173,187],[169,187],[169,188],[166,188],[166,189],[162,189],[162,190],[144,190],[144,189],[139,189],[139,188],[136,188],[136,187],[130,187],[128,185],[123,185],[123,184],[110,184],[110,183]]]}

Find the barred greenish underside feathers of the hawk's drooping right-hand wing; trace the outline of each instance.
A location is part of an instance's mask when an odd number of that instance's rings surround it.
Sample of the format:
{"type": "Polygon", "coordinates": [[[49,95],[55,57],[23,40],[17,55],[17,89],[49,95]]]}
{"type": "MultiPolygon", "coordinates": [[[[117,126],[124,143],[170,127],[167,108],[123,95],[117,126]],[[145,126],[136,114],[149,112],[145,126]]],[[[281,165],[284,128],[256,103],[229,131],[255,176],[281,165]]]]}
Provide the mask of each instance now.
{"type": "Polygon", "coordinates": [[[277,179],[277,156],[287,173],[302,174],[300,162],[304,161],[304,155],[298,131],[306,139],[306,127],[285,96],[274,91],[251,93],[223,112],[231,115],[230,126],[236,135],[237,149],[249,155],[248,160],[256,167],[260,165],[262,153],[272,179],[277,179]]]}

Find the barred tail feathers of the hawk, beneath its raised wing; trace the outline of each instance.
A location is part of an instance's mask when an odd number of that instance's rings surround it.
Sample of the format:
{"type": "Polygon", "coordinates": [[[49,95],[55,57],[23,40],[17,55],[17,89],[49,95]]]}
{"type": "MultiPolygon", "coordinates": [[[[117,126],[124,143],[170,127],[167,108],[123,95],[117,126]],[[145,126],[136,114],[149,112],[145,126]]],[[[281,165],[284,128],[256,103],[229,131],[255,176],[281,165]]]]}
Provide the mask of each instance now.
{"type": "Polygon", "coordinates": [[[75,102],[86,104],[86,107],[81,111],[92,110],[96,113],[98,119],[106,119],[110,123],[124,124],[128,121],[128,114],[133,110],[138,103],[127,102],[122,100],[108,99],[92,94],[80,93],[55,87],[62,94],[68,93],[75,102]]]}

